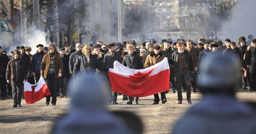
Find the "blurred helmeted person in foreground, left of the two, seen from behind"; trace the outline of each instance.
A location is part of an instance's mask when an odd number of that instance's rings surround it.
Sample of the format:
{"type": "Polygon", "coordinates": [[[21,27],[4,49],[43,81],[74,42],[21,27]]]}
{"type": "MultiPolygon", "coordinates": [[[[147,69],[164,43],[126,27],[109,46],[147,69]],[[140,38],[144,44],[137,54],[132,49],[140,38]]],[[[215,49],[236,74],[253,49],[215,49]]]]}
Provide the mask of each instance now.
{"type": "Polygon", "coordinates": [[[126,124],[131,113],[119,116],[120,112],[107,111],[105,82],[94,76],[79,77],[70,83],[69,112],[56,121],[52,134],[136,134],[126,124]]]}

